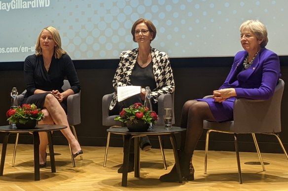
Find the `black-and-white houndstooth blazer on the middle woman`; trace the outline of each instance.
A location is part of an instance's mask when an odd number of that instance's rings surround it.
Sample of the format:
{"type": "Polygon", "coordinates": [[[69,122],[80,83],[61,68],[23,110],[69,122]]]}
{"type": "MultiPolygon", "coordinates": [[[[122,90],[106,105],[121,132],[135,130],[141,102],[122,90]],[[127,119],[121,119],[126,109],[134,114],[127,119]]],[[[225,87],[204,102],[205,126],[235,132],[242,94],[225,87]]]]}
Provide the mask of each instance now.
{"type": "MultiPolygon", "coordinates": [[[[130,77],[136,64],[137,55],[138,48],[123,51],[120,54],[120,62],[112,81],[115,92],[110,103],[110,110],[114,108],[117,102],[117,86],[132,85],[130,77]]],[[[152,102],[156,103],[160,95],[174,92],[175,83],[169,56],[164,52],[151,48],[151,57],[156,82],[156,89],[151,90],[151,97],[152,102]]]]}

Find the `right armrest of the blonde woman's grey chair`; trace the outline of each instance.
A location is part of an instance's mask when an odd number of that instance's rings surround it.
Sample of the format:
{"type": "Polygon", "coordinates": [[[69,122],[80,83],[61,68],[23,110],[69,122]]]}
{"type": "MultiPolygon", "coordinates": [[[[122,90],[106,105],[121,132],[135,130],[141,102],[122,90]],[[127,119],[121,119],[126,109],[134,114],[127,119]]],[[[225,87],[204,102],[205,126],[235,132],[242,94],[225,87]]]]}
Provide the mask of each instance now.
{"type": "Polygon", "coordinates": [[[81,123],[80,115],[80,93],[69,95],[67,98],[67,120],[69,125],[81,123]]]}

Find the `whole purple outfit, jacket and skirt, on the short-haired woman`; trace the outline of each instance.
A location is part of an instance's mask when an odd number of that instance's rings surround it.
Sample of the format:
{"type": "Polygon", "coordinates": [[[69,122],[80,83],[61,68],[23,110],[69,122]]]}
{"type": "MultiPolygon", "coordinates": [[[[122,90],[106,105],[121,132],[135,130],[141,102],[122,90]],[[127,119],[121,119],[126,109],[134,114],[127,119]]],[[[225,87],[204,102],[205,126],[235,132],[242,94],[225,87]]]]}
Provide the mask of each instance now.
{"type": "MultiPolygon", "coordinates": [[[[243,70],[243,62],[247,55],[247,51],[240,51],[235,55],[230,73],[219,89],[235,88],[237,98],[268,100],[281,77],[278,55],[261,48],[252,65],[243,70]]],[[[215,102],[212,98],[197,100],[208,103],[216,121],[233,119],[236,97],[230,97],[222,103],[215,102]]]]}

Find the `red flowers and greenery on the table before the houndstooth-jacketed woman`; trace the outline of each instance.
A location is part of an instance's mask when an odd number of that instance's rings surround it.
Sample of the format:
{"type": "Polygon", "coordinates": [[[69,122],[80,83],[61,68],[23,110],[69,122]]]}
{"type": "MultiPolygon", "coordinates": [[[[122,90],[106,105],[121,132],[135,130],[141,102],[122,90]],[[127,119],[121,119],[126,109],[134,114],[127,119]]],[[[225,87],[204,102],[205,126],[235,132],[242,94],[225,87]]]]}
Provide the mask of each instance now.
{"type": "Polygon", "coordinates": [[[120,111],[119,116],[115,117],[114,120],[119,120],[126,123],[130,121],[131,123],[137,123],[136,121],[142,119],[144,123],[155,123],[158,119],[157,113],[155,111],[149,110],[144,107],[141,103],[136,103],[129,108],[124,108],[120,111]]]}

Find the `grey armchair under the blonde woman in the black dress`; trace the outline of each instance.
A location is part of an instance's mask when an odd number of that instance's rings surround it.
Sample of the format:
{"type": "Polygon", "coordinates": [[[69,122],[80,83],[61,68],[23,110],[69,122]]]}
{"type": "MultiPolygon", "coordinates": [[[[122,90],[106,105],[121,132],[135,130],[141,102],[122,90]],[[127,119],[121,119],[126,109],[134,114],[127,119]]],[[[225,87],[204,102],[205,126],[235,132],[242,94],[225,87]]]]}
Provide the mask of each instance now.
{"type": "MultiPolygon", "coordinates": [[[[68,80],[64,80],[64,85],[62,86],[62,89],[65,91],[67,89],[69,89],[70,83],[68,80]]],[[[23,102],[24,99],[24,94],[26,93],[26,90],[17,96],[17,101],[18,104],[23,102]]],[[[68,119],[68,123],[70,125],[70,127],[72,128],[72,133],[74,134],[75,138],[78,140],[77,138],[77,134],[76,134],[76,130],[74,125],[78,125],[81,123],[81,116],[80,116],[80,95],[81,95],[81,91],[79,93],[73,94],[68,96],[67,98],[67,119],[68,119]]],[[[16,148],[17,148],[17,144],[18,144],[18,138],[19,138],[19,134],[17,134],[16,136],[16,141],[15,141],[15,146],[14,146],[14,153],[13,153],[13,159],[12,159],[12,166],[14,166],[15,164],[15,158],[16,158],[16,148]]],[[[71,160],[72,160],[72,165],[73,167],[75,167],[75,161],[73,158],[73,153],[72,153],[72,148],[69,145],[70,151],[71,151],[71,160]]],[[[83,160],[82,156],[80,156],[80,159],[83,160]]]]}

